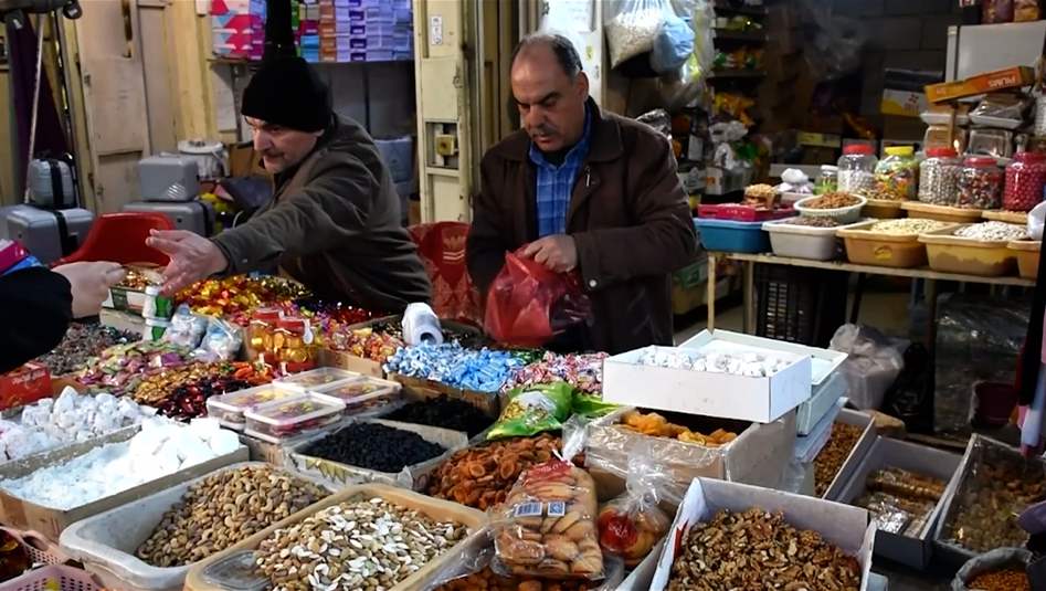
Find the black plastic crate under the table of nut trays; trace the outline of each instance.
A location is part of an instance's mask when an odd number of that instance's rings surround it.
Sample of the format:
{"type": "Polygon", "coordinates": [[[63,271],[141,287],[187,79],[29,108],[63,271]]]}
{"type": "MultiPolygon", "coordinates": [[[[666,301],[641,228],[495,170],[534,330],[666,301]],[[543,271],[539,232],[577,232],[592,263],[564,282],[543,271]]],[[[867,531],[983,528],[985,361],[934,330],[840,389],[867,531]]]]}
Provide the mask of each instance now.
{"type": "Polygon", "coordinates": [[[756,334],[826,347],[846,318],[847,274],[756,265],[756,334]]]}

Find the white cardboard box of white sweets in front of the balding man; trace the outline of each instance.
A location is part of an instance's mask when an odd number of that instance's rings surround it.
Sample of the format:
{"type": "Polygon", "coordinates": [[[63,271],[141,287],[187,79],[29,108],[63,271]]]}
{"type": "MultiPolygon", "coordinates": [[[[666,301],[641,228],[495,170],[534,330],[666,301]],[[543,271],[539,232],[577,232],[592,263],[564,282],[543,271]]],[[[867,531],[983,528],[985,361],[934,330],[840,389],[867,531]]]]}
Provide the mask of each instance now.
{"type": "MultiPolygon", "coordinates": [[[[809,356],[731,345],[740,351],[772,355],[791,363],[767,378],[641,366],[644,347],[603,362],[603,400],[616,404],[769,423],[810,399],[809,356]]],[[[704,350],[704,349],[702,349],[704,350]]],[[[690,349],[693,351],[693,349],[690,349]]]]}

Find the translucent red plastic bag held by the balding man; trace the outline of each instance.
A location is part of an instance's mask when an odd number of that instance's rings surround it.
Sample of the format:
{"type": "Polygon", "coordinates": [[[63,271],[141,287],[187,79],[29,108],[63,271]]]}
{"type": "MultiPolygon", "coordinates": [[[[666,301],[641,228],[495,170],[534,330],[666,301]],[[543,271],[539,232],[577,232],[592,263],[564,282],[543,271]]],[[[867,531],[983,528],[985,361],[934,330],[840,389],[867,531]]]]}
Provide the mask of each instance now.
{"type": "Polygon", "coordinates": [[[589,297],[577,273],[556,273],[522,255],[505,253],[505,266],[487,292],[484,323],[498,342],[540,347],[589,316],[589,297]]]}

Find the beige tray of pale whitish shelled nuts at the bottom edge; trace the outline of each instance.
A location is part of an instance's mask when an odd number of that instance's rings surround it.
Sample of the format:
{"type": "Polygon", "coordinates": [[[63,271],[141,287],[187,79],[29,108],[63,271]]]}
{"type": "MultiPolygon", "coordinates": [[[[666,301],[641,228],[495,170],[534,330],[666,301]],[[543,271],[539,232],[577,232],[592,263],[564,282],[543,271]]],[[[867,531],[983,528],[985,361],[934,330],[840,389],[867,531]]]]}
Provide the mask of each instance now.
{"type": "Polygon", "coordinates": [[[197,564],[186,589],[223,585],[215,571],[263,577],[274,591],[415,589],[486,520],[476,509],[402,488],[350,486],[197,564]],[[211,568],[245,550],[256,569],[211,568]]]}

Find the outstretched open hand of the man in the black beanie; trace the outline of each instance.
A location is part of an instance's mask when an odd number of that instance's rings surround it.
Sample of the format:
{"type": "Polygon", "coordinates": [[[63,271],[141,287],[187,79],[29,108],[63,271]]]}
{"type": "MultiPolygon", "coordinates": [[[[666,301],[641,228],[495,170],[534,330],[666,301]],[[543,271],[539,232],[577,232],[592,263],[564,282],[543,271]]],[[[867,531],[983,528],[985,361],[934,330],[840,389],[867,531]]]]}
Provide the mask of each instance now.
{"type": "Polygon", "coordinates": [[[163,270],[165,295],[175,295],[181,288],[221,273],[229,266],[229,261],[218,245],[184,230],[151,230],[146,244],[171,258],[163,270]]]}

